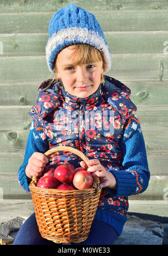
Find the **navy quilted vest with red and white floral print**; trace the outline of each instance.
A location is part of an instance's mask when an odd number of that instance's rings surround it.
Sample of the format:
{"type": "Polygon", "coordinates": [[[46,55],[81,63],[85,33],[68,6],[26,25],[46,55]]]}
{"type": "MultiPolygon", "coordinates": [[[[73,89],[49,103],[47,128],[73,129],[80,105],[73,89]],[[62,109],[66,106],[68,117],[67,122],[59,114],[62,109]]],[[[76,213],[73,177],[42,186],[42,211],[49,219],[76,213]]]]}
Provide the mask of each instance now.
{"type": "MultiPolygon", "coordinates": [[[[127,118],[137,110],[129,99],[130,90],[113,77],[104,76],[105,84],[87,98],[69,94],[61,81],[39,88],[36,104],[30,115],[43,127],[49,147],[66,145],[81,150],[89,159],[98,158],[108,171],[122,168],[120,139],[127,118]]],[[[57,152],[50,164],[70,163],[80,167],[81,158],[70,152],[57,152]]],[[[100,207],[119,206],[127,211],[128,198],[111,198],[106,188],[102,189],[100,207]]]]}

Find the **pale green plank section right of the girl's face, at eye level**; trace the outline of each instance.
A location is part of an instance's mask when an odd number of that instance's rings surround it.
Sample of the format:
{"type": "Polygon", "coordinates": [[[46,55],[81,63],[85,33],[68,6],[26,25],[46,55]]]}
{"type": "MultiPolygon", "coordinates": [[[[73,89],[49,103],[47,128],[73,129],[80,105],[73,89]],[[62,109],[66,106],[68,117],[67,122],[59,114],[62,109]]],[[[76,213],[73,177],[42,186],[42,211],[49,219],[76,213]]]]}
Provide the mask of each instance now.
{"type": "Polygon", "coordinates": [[[118,80],[167,80],[168,57],[165,54],[111,54],[111,60],[112,67],[107,75],[118,80]]]}

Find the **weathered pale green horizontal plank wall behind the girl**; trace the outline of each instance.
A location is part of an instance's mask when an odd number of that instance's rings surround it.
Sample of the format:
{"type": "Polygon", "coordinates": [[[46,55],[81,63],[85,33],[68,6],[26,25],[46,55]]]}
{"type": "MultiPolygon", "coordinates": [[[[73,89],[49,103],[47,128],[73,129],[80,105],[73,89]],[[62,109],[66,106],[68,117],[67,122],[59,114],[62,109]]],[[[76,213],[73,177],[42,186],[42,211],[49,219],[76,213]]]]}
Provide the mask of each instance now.
{"type": "Polygon", "coordinates": [[[111,49],[113,66],[107,75],[129,86],[138,107],[151,180],[143,194],[130,196],[131,205],[137,212],[148,208],[151,214],[152,205],[158,205],[155,214],[168,216],[168,1],[0,1],[3,198],[30,199],[17,182],[31,123],[28,111],[36,102],[41,81],[51,77],[45,60],[49,20],[69,3],[97,17],[111,49]]]}

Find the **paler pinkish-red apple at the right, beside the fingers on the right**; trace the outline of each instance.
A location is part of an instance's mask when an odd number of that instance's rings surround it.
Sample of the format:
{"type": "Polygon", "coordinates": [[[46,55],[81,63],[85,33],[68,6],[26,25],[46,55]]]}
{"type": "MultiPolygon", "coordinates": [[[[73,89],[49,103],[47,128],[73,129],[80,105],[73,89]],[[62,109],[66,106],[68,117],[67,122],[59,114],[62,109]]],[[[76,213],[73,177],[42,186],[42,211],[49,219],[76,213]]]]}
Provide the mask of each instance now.
{"type": "Polygon", "coordinates": [[[78,171],[74,174],[73,185],[77,189],[88,189],[94,183],[91,173],[85,170],[78,171]]]}

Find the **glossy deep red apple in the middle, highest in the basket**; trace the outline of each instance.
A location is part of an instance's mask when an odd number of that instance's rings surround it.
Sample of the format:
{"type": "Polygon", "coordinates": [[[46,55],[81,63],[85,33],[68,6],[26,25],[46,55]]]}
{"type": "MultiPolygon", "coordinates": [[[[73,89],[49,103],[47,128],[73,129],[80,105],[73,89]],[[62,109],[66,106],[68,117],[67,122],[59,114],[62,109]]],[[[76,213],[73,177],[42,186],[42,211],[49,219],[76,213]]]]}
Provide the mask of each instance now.
{"type": "Polygon", "coordinates": [[[54,176],[60,182],[70,184],[73,180],[74,171],[68,164],[60,164],[55,169],[54,176]]]}

